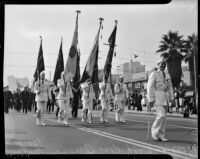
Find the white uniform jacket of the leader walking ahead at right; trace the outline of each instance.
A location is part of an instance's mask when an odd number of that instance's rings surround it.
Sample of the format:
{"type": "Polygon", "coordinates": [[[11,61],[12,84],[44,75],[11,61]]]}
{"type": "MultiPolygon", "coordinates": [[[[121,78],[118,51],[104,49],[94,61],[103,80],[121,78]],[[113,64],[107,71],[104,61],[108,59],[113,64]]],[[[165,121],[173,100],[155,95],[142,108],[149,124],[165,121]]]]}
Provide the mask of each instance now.
{"type": "Polygon", "coordinates": [[[171,77],[162,71],[154,71],[150,74],[147,83],[148,102],[154,102],[155,106],[167,106],[174,99],[171,77]]]}

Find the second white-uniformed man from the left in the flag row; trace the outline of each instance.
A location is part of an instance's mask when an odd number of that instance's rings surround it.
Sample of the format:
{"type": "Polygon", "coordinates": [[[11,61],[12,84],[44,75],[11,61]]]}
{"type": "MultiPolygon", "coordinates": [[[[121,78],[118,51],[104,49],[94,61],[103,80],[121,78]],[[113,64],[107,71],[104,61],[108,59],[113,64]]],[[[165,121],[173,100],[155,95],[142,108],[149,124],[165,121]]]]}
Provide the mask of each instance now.
{"type": "Polygon", "coordinates": [[[58,80],[57,86],[59,88],[58,93],[58,123],[63,123],[65,125],[68,124],[68,115],[69,114],[69,105],[70,98],[73,98],[72,88],[70,84],[70,80],[72,78],[72,74],[67,74],[64,76],[64,72],[61,73],[61,79],[58,80]]]}

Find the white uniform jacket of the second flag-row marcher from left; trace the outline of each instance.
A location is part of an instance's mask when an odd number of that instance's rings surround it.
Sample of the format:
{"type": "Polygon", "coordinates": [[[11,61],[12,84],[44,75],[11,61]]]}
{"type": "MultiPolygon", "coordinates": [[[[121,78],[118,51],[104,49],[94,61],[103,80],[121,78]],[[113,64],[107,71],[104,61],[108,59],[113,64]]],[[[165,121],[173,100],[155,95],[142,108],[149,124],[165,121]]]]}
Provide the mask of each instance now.
{"type": "Polygon", "coordinates": [[[59,88],[59,93],[57,96],[58,100],[73,98],[72,87],[69,82],[67,82],[67,86],[66,86],[64,83],[64,79],[59,79],[57,82],[57,86],[59,88]]]}

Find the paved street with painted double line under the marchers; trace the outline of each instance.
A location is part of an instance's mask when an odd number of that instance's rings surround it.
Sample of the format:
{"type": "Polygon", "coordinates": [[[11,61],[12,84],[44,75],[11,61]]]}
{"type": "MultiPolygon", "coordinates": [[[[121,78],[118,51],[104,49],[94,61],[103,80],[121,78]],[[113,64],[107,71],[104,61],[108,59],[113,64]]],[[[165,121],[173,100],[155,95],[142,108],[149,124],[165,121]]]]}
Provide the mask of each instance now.
{"type": "MultiPolygon", "coordinates": [[[[69,126],[57,123],[55,113],[46,114],[46,126],[37,126],[34,113],[11,110],[5,114],[6,154],[171,154],[174,158],[197,158],[197,118],[167,118],[169,142],[147,140],[145,113],[126,113],[126,123],[117,123],[114,112],[109,123],[101,123],[100,111],[93,112],[93,124],[69,118],[69,126]]],[[[155,116],[150,116],[150,125],[155,116]]]]}

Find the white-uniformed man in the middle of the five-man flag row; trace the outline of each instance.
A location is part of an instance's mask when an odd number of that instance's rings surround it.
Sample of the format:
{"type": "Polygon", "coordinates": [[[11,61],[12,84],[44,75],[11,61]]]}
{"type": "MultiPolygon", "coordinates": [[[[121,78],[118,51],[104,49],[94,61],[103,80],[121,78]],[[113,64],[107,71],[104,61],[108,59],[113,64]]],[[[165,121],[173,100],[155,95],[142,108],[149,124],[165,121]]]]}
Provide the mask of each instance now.
{"type": "Polygon", "coordinates": [[[82,109],[82,119],[81,122],[84,122],[86,118],[86,110],[88,109],[88,123],[92,123],[92,109],[93,109],[93,100],[96,99],[93,86],[91,80],[88,79],[86,82],[81,84],[81,88],[83,90],[82,94],[82,102],[83,102],[83,109],[82,109]]]}

